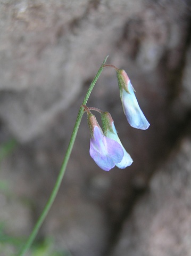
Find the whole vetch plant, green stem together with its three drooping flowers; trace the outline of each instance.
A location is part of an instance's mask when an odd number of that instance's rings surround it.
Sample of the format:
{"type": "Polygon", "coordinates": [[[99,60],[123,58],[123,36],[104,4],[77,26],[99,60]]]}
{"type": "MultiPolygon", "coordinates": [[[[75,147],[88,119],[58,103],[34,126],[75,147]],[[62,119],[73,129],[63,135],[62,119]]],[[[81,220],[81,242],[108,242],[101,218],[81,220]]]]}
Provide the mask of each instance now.
{"type": "Polygon", "coordinates": [[[80,106],[76,123],[74,124],[73,132],[68,145],[68,149],[65,153],[61,170],[57,177],[51,196],[49,197],[44,207],[44,210],[41,213],[39,219],[37,220],[37,223],[34,229],[32,230],[27,242],[23,245],[20,252],[18,253],[18,256],[22,256],[27,252],[32,242],[34,241],[44,219],[46,218],[46,215],[48,214],[49,209],[51,208],[54,202],[54,199],[60,188],[64,173],[71,155],[74,141],[76,140],[81,118],[85,113],[85,111],[87,113],[88,125],[90,130],[89,153],[90,153],[90,156],[94,159],[95,163],[99,167],[101,167],[101,169],[103,169],[104,171],[110,171],[114,166],[117,166],[120,169],[124,169],[127,166],[130,166],[133,162],[131,156],[127,153],[126,149],[124,149],[118,137],[117,131],[114,126],[114,121],[110,113],[107,111],[99,110],[94,107],[88,108],[86,106],[89,96],[97,82],[97,79],[99,78],[99,76],[101,75],[105,67],[113,67],[117,71],[117,78],[118,78],[118,85],[120,90],[122,107],[129,124],[132,127],[135,127],[137,129],[142,129],[142,130],[146,130],[150,125],[138,105],[137,99],[135,97],[135,90],[132,87],[130,83],[130,79],[127,76],[126,72],[122,69],[118,69],[113,65],[105,65],[107,58],[108,56],[104,59],[95,78],[93,79],[92,83],[89,86],[89,89],[86,93],[84,101],[82,102],[82,105],[80,106]],[[101,114],[102,128],[101,126],[99,126],[96,120],[96,117],[92,114],[91,112],[92,110],[98,111],[101,114]]]}

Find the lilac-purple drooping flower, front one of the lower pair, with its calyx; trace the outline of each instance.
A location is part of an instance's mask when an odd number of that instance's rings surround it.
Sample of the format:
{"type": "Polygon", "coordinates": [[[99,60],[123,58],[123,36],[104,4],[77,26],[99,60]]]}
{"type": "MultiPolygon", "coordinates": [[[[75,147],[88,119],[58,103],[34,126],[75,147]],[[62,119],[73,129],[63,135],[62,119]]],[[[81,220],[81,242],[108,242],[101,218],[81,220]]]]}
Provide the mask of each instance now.
{"type": "Polygon", "coordinates": [[[97,123],[96,117],[88,113],[91,133],[89,154],[104,171],[110,171],[123,159],[123,149],[117,141],[107,138],[97,123]]]}

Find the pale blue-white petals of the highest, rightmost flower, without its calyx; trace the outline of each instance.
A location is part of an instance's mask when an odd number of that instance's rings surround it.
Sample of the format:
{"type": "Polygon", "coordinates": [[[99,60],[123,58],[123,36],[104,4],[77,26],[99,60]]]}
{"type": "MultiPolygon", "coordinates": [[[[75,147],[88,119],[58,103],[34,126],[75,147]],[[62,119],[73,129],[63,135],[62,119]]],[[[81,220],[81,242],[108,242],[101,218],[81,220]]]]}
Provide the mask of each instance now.
{"type": "Polygon", "coordinates": [[[148,123],[146,117],[138,105],[130,81],[128,81],[128,91],[129,93],[123,89],[121,98],[124,114],[127,117],[127,121],[132,127],[146,130],[148,126],[150,126],[150,123],[148,123]]]}

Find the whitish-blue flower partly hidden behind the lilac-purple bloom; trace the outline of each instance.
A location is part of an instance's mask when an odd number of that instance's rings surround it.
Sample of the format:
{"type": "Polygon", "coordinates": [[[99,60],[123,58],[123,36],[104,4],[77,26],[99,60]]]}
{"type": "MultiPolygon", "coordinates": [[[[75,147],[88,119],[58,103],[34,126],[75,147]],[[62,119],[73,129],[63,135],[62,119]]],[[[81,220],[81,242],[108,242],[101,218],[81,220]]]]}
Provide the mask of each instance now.
{"type": "Polygon", "coordinates": [[[107,138],[110,138],[112,140],[117,141],[123,149],[123,153],[124,153],[123,158],[122,158],[120,163],[117,163],[115,165],[120,169],[124,169],[127,166],[130,166],[133,162],[132,158],[127,153],[126,149],[124,149],[124,147],[123,147],[123,145],[122,145],[122,143],[121,143],[121,141],[118,137],[117,131],[115,129],[113,118],[111,117],[109,112],[102,112],[101,117],[102,117],[102,126],[103,126],[104,135],[107,138]]]}

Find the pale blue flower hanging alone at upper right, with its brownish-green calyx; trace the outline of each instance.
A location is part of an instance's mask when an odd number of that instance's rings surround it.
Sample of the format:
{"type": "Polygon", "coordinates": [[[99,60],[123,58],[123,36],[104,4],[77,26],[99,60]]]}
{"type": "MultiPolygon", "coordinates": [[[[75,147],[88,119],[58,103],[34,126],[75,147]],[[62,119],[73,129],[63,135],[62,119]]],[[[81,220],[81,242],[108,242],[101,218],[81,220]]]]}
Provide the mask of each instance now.
{"type": "Polygon", "coordinates": [[[123,106],[124,114],[127,117],[128,123],[137,129],[146,130],[148,123],[142,110],[140,109],[130,79],[123,69],[117,70],[118,85],[120,89],[120,97],[123,106]]]}

